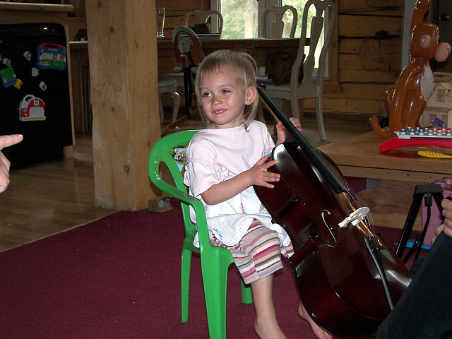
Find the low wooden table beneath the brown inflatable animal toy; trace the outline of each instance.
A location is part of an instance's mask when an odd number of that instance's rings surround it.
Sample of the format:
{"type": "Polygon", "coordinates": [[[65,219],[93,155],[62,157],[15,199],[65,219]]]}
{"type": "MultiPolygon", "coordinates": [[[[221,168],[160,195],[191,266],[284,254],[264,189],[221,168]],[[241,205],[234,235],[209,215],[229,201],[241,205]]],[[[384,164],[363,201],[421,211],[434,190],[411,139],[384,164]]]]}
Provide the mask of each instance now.
{"type": "MultiPolygon", "coordinates": [[[[452,160],[421,157],[417,155],[420,146],[381,153],[379,146],[384,141],[376,133],[369,132],[320,146],[319,150],[331,157],[345,177],[368,179],[367,191],[361,191],[357,196],[371,208],[375,225],[403,228],[415,186],[452,177],[452,160]]],[[[451,154],[448,148],[440,148],[440,151],[451,154]]],[[[415,230],[420,230],[420,215],[415,230]]]]}

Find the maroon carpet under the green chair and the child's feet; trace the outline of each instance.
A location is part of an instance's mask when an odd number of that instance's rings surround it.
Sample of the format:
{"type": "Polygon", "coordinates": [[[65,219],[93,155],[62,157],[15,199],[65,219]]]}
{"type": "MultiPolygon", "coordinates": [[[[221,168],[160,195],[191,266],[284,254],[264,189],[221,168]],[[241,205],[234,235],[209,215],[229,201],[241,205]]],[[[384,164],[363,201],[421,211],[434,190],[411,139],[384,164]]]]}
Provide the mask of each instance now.
{"type": "MultiPolygon", "coordinates": [[[[208,338],[198,256],[188,323],[181,323],[180,207],[120,212],[0,253],[0,338],[208,338]]],[[[384,229],[395,242],[400,230],[384,229]]],[[[287,338],[311,339],[297,316],[290,266],[275,276],[275,307],[287,338]]],[[[254,307],[241,302],[231,266],[227,338],[256,338],[254,307]]]]}

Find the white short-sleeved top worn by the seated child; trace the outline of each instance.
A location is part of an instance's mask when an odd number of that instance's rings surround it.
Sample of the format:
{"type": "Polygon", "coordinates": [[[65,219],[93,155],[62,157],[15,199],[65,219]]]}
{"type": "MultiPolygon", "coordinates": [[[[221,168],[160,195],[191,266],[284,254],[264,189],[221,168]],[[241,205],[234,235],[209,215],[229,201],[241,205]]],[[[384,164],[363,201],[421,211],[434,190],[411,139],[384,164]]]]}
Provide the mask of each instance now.
{"type": "MultiPolygon", "coordinates": [[[[223,244],[235,245],[256,219],[278,232],[283,246],[290,243],[285,230],[271,223],[270,214],[252,186],[216,205],[206,204],[201,197],[210,186],[256,165],[264,155],[270,155],[274,146],[267,126],[259,121],[252,121],[248,131],[244,125],[230,129],[203,129],[191,140],[186,149],[184,183],[189,186],[189,193],[203,203],[210,239],[215,237],[223,244]]],[[[196,223],[193,209],[190,218],[196,223]]],[[[198,246],[198,234],[194,246],[198,246]]]]}

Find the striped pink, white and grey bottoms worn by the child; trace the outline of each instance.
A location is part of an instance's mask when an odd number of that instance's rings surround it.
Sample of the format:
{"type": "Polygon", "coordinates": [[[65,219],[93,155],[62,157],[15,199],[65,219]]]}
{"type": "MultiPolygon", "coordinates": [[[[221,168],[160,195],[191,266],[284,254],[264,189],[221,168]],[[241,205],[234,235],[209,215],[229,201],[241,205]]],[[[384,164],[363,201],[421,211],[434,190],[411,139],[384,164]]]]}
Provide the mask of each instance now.
{"type": "Polygon", "coordinates": [[[234,246],[226,246],[220,242],[212,244],[230,250],[246,284],[275,273],[283,267],[281,254],[288,258],[294,252],[292,243],[287,247],[282,246],[278,233],[261,225],[258,220],[254,220],[238,244],[234,246]]]}

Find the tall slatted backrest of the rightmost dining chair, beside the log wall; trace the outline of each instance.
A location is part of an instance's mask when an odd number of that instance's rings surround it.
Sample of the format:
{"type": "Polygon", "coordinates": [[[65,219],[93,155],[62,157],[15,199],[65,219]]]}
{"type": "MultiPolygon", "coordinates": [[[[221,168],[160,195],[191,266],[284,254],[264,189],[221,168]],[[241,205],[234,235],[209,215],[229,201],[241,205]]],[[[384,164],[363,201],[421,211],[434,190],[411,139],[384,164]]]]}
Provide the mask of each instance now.
{"type": "Polygon", "coordinates": [[[299,68],[303,66],[302,83],[310,83],[311,76],[314,72],[316,49],[320,48],[319,69],[316,75],[316,85],[323,83],[323,76],[326,69],[326,56],[328,55],[328,47],[333,34],[333,28],[336,19],[335,4],[331,0],[309,0],[304,6],[302,18],[302,35],[299,41],[297,59],[292,67],[290,84],[298,83],[299,68]],[[309,8],[314,6],[316,13],[311,19],[311,34],[309,37],[309,54],[304,59],[304,47],[306,45],[307,22],[309,8]],[[325,22],[326,21],[326,22],[325,22]],[[321,35],[323,31],[323,40],[321,35]]]}

